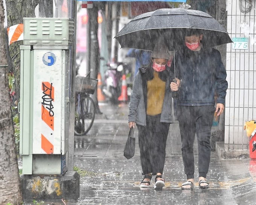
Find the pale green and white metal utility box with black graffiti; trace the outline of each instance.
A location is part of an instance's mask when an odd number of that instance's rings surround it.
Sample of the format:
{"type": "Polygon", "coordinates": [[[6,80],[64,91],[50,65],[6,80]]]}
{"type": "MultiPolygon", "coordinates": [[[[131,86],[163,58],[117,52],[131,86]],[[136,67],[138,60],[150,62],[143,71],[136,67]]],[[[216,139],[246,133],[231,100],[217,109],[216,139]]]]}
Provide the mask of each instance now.
{"type": "Polygon", "coordinates": [[[67,170],[74,21],[24,18],[23,23],[19,106],[23,174],[63,174],[67,170]]]}

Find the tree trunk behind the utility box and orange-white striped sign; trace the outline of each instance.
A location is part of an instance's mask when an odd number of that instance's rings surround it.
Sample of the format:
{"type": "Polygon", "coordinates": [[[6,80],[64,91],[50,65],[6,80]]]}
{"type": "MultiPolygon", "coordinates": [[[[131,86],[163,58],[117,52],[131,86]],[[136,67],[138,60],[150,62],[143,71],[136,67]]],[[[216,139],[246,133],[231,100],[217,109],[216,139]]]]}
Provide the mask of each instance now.
{"type": "MultiPolygon", "coordinates": [[[[23,17],[35,17],[35,7],[38,2],[39,0],[6,0],[8,27],[23,23],[23,17]]],[[[23,41],[14,42],[9,46],[18,101],[20,99],[20,54],[18,54],[20,45],[23,45],[23,41]]]]}

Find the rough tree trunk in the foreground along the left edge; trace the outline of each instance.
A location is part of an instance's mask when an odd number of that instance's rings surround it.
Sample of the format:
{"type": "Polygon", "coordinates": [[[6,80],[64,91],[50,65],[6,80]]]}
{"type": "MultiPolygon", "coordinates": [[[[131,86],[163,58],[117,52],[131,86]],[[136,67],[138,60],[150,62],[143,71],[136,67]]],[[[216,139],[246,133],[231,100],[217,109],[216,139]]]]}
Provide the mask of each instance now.
{"type": "Polygon", "coordinates": [[[0,0],[0,204],[19,205],[23,199],[8,89],[8,60],[3,21],[3,1],[0,0]]]}

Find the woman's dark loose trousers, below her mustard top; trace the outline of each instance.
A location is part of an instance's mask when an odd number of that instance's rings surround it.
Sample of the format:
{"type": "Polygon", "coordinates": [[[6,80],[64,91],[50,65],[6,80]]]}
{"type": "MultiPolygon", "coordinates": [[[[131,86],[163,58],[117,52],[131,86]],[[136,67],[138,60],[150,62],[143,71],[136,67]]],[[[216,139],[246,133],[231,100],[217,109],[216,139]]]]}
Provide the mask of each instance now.
{"type": "Polygon", "coordinates": [[[143,175],[163,173],[166,140],[170,124],[160,122],[160,117],[161,115],[147,115],[146,126],[137,125],[143,175]]]}

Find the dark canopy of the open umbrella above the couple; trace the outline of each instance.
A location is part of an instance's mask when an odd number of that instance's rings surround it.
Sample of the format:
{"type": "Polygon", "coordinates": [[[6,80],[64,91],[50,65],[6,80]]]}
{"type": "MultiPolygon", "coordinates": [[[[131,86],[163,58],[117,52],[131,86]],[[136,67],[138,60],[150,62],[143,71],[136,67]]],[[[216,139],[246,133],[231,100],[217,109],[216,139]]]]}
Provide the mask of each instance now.
{"type": "Polygon", "coordinates": [[[158,9],[133,18],[114,37],[121,47],[152,51],[163,36],[169,50],[184,42],[186,29],[200,29],[203,42],[213,47],[232,42],[227,31],[209,14],[192,9],[158,9]]]}

